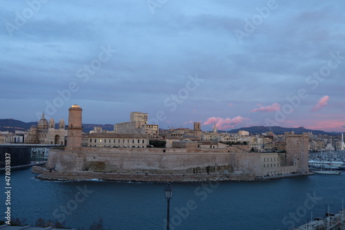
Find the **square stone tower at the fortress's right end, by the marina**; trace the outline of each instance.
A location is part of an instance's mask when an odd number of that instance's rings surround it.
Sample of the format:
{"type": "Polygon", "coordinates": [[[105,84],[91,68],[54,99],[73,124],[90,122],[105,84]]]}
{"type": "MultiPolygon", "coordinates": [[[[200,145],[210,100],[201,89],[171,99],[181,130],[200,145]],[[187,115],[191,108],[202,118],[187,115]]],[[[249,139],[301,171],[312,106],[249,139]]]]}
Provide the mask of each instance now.
{"type": "Polygon", "coordinates": [[[309,173],[308,134],[286,135],[286,165],[297,166],[297,173],[309,173]]]}

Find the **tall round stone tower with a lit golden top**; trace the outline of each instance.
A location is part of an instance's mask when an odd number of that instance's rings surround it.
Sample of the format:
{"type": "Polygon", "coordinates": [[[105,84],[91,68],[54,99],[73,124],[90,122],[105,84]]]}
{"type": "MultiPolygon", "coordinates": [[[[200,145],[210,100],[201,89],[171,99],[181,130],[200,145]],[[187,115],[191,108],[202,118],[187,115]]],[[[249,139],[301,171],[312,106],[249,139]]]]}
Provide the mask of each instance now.
{"type": "Polygon", "coordinates": [[[81,125],[81,111],[80,106],[74,104],[68,109],[68,133],[67,133],[67,147],[80,147],[82,139],[83,126],[81,125]]]}

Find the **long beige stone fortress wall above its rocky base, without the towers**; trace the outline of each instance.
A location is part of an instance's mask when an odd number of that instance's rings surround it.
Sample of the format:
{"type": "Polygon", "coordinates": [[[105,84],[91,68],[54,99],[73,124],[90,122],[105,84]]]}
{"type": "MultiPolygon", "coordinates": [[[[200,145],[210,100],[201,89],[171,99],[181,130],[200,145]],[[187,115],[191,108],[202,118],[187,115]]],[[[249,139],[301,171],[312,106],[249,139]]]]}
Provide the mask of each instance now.
{"type": "Polygon", "coordinates": [[[80,147],[69,150],[66,148],[66,151],[52,149],[47,168],[57,171],[106,173],[228,172],[260,177],[284,172],[279,163],[281,160],[278,153],[248,153],[246,149],[248,146],[243,147],[230,146],[224,149],[80,147]]]}

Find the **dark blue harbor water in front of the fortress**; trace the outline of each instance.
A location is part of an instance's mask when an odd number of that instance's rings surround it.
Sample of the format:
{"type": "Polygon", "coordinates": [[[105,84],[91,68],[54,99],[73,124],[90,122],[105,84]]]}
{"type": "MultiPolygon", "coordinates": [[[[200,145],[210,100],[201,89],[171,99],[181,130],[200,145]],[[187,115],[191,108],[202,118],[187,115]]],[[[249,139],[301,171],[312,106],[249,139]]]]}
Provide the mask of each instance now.
{"type": "MultiPolygon", "coordinates": [[[[166,183],[51,182],[31,169],[12,171],[11,217],[38,218],[87,228],[166,229],[166,183]]],[[[0,180],[5,190],[5,173],[0,180]]],[[[256,182],[173,183],[170,229],[292,229],[337,213],[345,198],[345,175],[311,175],[256,182]],[[328,207],[327,207],[328,209],[328,207]]],[[[6,211],[1,193],[1,213],[6,211]]]]}

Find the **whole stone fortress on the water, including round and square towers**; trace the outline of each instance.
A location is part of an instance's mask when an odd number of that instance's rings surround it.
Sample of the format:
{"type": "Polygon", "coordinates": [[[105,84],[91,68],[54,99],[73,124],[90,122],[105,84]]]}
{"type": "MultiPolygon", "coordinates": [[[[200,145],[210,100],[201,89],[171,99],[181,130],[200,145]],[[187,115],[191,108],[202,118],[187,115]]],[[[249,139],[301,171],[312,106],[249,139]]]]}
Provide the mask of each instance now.
{"type": "MultiPolygon", "coordinates": [[[[200,148],[197,142],[177,142],[171,148],[81,146],[82,109],[73,105],[68,111],[67,146],[63,150],[52,148],[46,167],[32,168],[40,174],[40,179],[197,182],[262,180],[311,174],[306,134],[286,135],[286,153],[253,153],[248,144],[200,148]]],[[[200,131],[199,123],[195,123],[195,135],[200,135],[200,131]]],[[[114,133],[109,137],[111,135],[114,133]]],[[[101,138],[106,142],[108,136],[104,134],[101,138]]],[[[112,141],[117,142],[119,138],[112,137],[112,141]]],[[[95,138],[88,140],[92,142],[92,139],[95,138]]],[[[111,142],[111,138],[108,139],[111,142]]],[[[101,140],[96,141],[99,143],[101,140]]],[[[132,142],[137,142],[137,139],[132,142]]]]}

